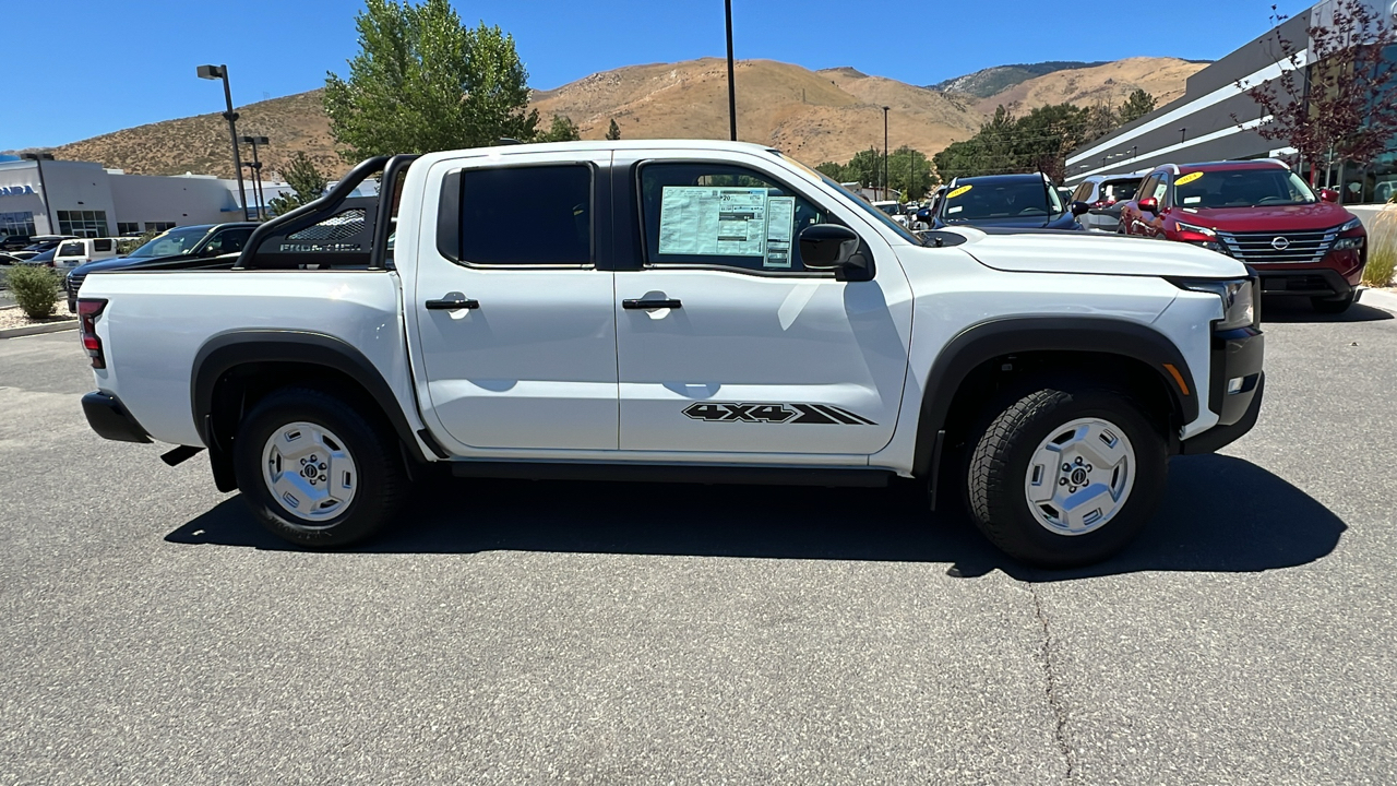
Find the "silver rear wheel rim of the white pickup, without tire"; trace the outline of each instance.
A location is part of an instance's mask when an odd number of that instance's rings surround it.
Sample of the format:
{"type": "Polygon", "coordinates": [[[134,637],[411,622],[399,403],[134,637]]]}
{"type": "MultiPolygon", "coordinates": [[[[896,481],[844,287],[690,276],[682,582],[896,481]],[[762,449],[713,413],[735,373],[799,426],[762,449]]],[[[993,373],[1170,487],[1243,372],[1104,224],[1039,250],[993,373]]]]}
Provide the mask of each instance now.
{"type": "Polygon", "coordinates": [[[353,502],[359,471],[344,439],[323,425],[296,421],[267,438],[263,483],[286,513],[324,523],[353,502]]]}

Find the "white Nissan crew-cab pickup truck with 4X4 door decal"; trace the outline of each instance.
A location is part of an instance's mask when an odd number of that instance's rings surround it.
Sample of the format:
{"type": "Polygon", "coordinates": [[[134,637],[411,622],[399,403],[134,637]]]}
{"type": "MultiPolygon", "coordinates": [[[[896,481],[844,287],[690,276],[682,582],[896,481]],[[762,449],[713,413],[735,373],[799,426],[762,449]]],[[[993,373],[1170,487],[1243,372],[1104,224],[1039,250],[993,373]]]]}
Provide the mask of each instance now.
{"type": "Polygon", "coordinates": [[[92,428],[172,443],[169,463],[207,449],[219,490],[310,547],[370,536],[447,463],[912,478],[1013,557],[1080,565],[1148,522],[1169,456],[1250,429],[1263,392],[1238,262],[914,235],[738,143],[374,158],[226,270],[96,273],[78,298],[92,428]],[[373,175],[381,196],[352,197],[373,175]]]}

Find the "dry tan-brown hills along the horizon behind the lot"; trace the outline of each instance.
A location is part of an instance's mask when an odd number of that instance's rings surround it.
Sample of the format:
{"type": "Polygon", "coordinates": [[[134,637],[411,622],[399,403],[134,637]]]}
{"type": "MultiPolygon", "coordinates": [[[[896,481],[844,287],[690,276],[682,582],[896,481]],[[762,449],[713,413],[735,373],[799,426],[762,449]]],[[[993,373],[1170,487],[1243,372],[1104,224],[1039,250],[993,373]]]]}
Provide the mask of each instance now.
{"type": "MultiPolygon", "coordinates": [[[[1058,71],[1009,88],[989,99],[943,94],[854,69],[810,71],[771,60],[740,60],[736,66],[738,134],[770,144],[807,164],[848,161],[855,152],[883,145],[883,106],[890,106],[888,136],[894,148],[911,145],[935,154],[971,137],[986,110],[999,103],[1024,108],[1070,101],[1119,105],[1137,87],[1165,103],[1183,94],[1200,64],[1137,57],[1092,69],[1058,71]]],[[[685,63],[630,66],[592,74],[557,90],[534,94],[534,108],[546,123],[567,115],[583,138],[601,138],[610,120],[623,138],[728,138],[725,62],[705,57],[685,63]]],[[[239,108],[239,134],[271,137],[263,176],[270,178],[298,151],[338,176],[348,165],[335,155],[321,91],[302,92],[239,108]]],[[[222,115],[197,115],[126,129],[66,144],[59,158],[99,161],[142,175],[232,176],[228,127],[222,115]]]]}

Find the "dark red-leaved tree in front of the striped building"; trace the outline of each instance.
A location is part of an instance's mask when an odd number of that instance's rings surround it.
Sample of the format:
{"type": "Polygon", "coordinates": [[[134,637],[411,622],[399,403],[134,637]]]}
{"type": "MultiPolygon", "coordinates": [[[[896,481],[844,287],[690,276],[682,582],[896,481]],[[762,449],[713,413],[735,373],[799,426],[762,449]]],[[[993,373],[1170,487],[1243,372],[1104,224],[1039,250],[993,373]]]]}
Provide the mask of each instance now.
{"type": "MultiPolygon", "coordinates": [[[[1271,6],[1275,29],[1267,46],[1281,76],[1236,83],[1270,117],[1256,131],[1294,147],[1310,165],[1310,183],[1329,158],[1370,164],[1397,133],[1397,63],[1383,59],[1383,48],[1397,43],[1397,28],[1365,0],[1317,8],[1301,43],[1282,32],[1287,18],[1271,6]]],[[[1232,120],[1243,129],[1255,124],[1236,115],[1232,120]]]]}

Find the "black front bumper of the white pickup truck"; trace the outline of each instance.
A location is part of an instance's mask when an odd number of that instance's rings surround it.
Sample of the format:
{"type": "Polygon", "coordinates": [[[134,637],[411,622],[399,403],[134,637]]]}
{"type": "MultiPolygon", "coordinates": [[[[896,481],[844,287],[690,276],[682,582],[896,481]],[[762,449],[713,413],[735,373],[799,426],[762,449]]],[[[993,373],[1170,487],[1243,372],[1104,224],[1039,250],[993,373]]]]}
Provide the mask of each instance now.
{"type": "Polygon", "coordinates": [[[1261,413],[1266,336],[1255,327],[1213,334],[1208,408],[1218,424],[1179,445],[1180,453],[1211,453],[1231,445],[1256,425],[1261,413]]]}

